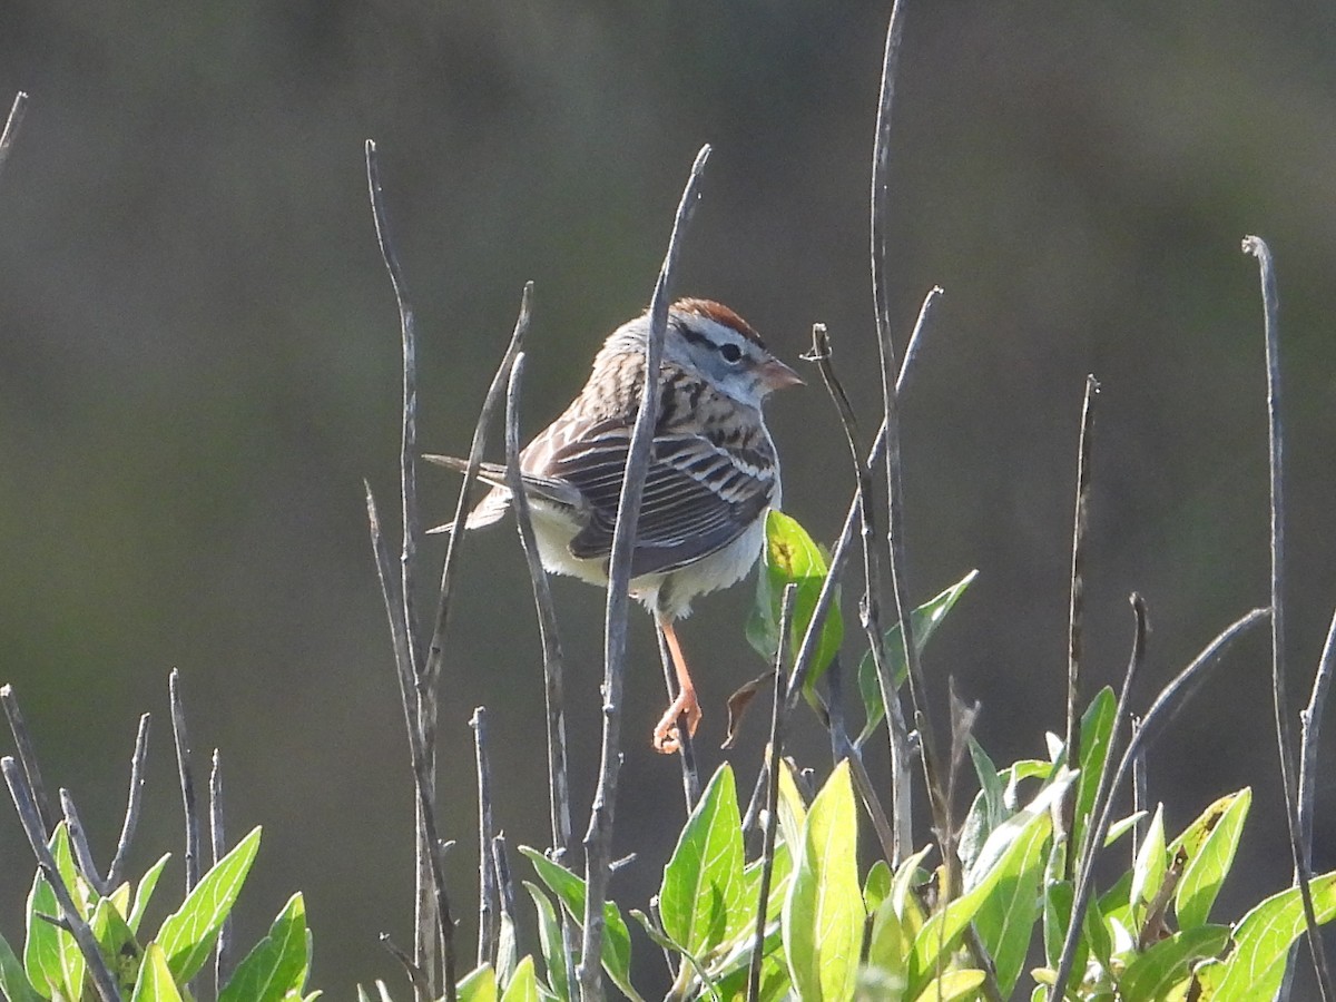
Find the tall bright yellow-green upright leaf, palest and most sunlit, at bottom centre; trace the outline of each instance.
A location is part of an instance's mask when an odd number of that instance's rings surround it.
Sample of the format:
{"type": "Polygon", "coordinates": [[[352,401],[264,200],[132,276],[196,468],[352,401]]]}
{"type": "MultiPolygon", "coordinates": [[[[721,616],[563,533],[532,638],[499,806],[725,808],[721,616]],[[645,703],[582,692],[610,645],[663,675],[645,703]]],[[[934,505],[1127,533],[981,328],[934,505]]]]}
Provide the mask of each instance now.
{"type": "Polygon", "coordinates": [[[858,812],[846,760],[807,814],[803,852],[784,900],[784,953],[804,1002],[852,997],[864,919],[858,812]]]}

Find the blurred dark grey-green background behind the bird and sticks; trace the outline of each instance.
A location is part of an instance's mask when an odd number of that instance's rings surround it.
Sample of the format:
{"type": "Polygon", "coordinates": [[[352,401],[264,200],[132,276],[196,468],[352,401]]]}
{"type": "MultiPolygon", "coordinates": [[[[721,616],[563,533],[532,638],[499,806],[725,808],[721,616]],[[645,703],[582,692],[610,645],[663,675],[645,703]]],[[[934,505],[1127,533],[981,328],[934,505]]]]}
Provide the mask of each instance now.
{"type": "MultiPolygon", "coordinates": [[[[888,8],[0,5],[0,100],[32,94],[0,178],[0,680],[103,858],[144,709],[156,725],[136,870],[179,847],[166,716],[179,667],[199,768],[222,749],[234,835],[266,826],[242,939],[301,888],[318,986],[347,997],[354,981],[399,977],[377,934],[410,939],[411,790],[362,501],[366,477],[395,510],[398,321],[363,140],[381,146],[418,311],[425,449],[466,448],[526,279],[526,429],[565,405],[603,337],[648,299],[704,142],[715,155],[679,289],[728,302],[795,363],[826,322],[871,428],[868,162],[888,8]]],[[[903,405],[910,582],[922,600],[981,569],[926,668],[938,709],[947,675],[982,700],[978,736],[999,759],[1042,754],[1043,729],[1061,731],[1086,373],[1104,383],[1092,684],[1121,675],[1132,589],[1154,628],[1142,707],[1267,601],[1246,232],[1271,240],[1280,273],[1296,709],[1307,696],[1336,597],[1333,52],[1336,12],[1316,0],[910,8],[891,160],[902,343],[929,286],[946,289],[903,405]]],[[[808,389],[771,415],[787,508],[830,538],[851,490],[832,409],[808,389]]],[[[444,520],[456,486],[425,472],[426,510],[444,520]]],[[[441,796],[468,941],[473,707],[492,712],[512,843],[545,844],[546,796],[513,532],[472,538],[461,573],[441,796]]],[[[760,668],[741,631],[749,597],[743,585],[704,600],[683,629],[707,770],[724,696],[760,668]]],[[[557,601],[582,830],[603,597],[562,581],[557,601]]],[[[681,808],[676,764],[648,748],[663,684],[648,620],[635,623],[617,848],[640,856],[613,894],[643,906],[681,808]]],[[[1259,635],[1150,756],[1173,828],[1256,790],[1222,916],[1289,879],[1267,675],[1259,635]]],[[[748,772],[759,731],[732,755],[748,772]]],[[[799,731],[819,764],[810,717],[799,731]]],[[[1321,787],[1315,862],[1328,870],[1336,804],[1321,787]]],[[[0,860],[0,930],[17,937],[31,862],[8,811],[0,860]]],[[[660,969],[641,949],[637,970],[660,969]]]]}

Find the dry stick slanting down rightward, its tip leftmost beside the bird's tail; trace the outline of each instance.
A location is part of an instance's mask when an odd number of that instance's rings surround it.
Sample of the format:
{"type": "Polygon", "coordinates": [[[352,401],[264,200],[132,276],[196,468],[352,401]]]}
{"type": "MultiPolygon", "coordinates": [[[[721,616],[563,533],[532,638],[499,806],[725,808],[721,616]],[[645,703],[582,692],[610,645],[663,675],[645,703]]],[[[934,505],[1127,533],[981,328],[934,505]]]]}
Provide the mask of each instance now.
{"type": "MultiPolygon", "coordinates": [[[[432,796],[429,786],[430,774],[426,763],[426,743],[414,716],[415,701],[411,660],[407,653],[409,637],[401,615],[402,609],[394,601],[394,558],[390,556],[390,548],[381,533],[381,520],[375,510],[375,498],[371,496],[370,486],[366,489],[366,517],[371,529],[371,552],[375,554],[375,570],[381,578],[381,596],[385,600],[385,609],[390,617],[390,637],[394,643],[394,661],[398,668],[399,696],[403,703],[403,717],[409,736],[409,759],[413,767],[413,787],[417,794],[417,816],[421,822],[420,836],[428,847],[428,866],[430,868],[428,887],[433,894],[433,911],[429,914],[436,915],[437,930],[426,937],[426,942],[434,942],[434,937],[440,935],[445,998],[448,1002],[456,1002],[454,919],[450,915],[450,898],[445,888],[445,862],[442,859],[441,839],[437,836],[436,828],[436,799],[432,796]]],[[[421,915],[422,912],[420,911],[418,914],[421,915]]],[[[413,969],[418,970],[422,975],[421,981],[413,979],[413,989],[418,994],[420,1002],[434,998],[436,989],[432,985],[436,978],[434,971],[426,971],[417,963],[409,970],[411,971],[413,969]],[[426,991],[424,991],[424,987],[426,991]]]]}

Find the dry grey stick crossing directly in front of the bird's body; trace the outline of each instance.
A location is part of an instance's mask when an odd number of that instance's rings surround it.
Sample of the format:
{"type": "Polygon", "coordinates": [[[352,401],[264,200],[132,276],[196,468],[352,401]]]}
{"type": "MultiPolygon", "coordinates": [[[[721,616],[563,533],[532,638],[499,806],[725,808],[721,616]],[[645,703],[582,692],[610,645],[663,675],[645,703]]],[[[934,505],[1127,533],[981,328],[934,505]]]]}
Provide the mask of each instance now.
{"type": "Polygon", "coordinates": [[[677,215],[668,236],[668,251],[655,294],[649,302],[649,331],[645,335],[645,373],[640,393],[640,411],[627,450],[627,469],[617,500],[617,522],[612,533],[612,553],[608,565],[608,607],[604,621],[604,680],[603,680],[603,749],[599,764],[599,787],[589,811],[589,830],[585,834],[585,910],[584,950],[580,955],[577,977],[581,1002],[595,1002],[603,997],[599,958],[603,950],[603,904],[608,896],[608,864],[612,859],[613,808],[617,798],[617,776],[621,770],[621,689],[627,661],[627,609],[631,601],[631,557],[640,521],[640,501],[644,494],[645,473],[653,446],[655,422],[659,417],[659,366],[663,358],[664,334],[668,329],[668,303],[672,273],[677,265],[681,232],[687,227],[700,190],[700,175],[709,158],[709,147],[696,154],[691,176],[681,192],[677,215]]]}

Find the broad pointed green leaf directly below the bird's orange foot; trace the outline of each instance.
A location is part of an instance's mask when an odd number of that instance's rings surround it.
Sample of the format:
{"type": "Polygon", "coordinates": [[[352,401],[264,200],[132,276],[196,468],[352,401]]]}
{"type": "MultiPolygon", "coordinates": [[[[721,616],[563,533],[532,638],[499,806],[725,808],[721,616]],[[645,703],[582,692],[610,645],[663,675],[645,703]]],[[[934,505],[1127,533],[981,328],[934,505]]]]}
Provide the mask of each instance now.
{"type": "Polygon", "coordinates": [[[695,957],[705,957],[755,915],[743,899],[741,820],[727,763],[709,780],[664,867],[659,915],[664,933],[695,957]]]}

